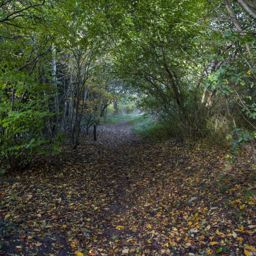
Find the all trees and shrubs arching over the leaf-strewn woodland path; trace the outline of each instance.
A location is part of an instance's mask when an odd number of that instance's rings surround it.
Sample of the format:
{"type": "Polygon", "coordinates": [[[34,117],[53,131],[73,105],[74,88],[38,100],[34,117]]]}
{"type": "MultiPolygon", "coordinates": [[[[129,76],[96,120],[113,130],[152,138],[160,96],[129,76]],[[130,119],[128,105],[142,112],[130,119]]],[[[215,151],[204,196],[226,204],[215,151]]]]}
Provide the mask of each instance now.
{"type": "Polygon", "coordinates": [[[242,145],[255,159],[255,7],[251,0],[2,1],[2,160],[21,168],[37,152],[50,161],[66,133],[75,148],[120,90],[136,93],[189,148],[198,138],[227,138],[235,154],[242,145]]]}

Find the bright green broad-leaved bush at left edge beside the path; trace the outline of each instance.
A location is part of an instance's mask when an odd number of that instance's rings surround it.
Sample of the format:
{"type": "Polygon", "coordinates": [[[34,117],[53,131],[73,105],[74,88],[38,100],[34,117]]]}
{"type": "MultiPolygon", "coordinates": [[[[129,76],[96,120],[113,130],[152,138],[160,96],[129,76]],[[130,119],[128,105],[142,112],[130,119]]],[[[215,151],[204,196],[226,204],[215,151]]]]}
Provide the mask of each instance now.
{"type": "Polygon", "coordinates": [[[58,140],[41,133],[56,114],[46,109],[50,96],[42,94],[47,89],[34,82],[36,72],[16,72],[14,76],[7,62],[5,67],[0,78],[1,161],[11,169],[22,169],[36,152],[58,153],[58,140]]]}

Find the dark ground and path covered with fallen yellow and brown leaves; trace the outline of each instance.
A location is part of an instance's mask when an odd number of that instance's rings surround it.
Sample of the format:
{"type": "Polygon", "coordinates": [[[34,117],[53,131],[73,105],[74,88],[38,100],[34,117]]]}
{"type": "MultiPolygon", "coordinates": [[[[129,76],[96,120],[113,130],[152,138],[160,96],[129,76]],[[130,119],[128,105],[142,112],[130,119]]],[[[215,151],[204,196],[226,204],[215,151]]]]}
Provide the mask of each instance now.
{"type": "Polygon", "coordinates": [[[217,145],[189,154],[137,138],[125,120],[75,150],[67,142],[50,170],[43,160],[1,184],[13,228],[0,255],[256,255],[255,170],[227,167],[217,145]]]}

